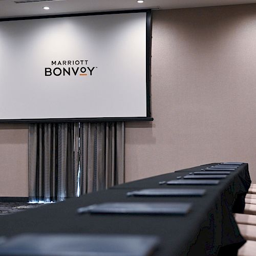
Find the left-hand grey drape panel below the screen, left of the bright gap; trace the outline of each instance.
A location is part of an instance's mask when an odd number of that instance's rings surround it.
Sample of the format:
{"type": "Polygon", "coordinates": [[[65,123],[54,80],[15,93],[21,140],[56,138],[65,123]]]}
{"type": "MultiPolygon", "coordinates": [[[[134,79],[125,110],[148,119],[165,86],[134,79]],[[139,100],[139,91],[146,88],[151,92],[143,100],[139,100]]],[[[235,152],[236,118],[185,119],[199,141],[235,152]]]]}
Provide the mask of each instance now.
{"type": "Polygon", "coordinates": [[[29,201],[60,201],[76,194],[77,123],[29,125],[29,201]]]}

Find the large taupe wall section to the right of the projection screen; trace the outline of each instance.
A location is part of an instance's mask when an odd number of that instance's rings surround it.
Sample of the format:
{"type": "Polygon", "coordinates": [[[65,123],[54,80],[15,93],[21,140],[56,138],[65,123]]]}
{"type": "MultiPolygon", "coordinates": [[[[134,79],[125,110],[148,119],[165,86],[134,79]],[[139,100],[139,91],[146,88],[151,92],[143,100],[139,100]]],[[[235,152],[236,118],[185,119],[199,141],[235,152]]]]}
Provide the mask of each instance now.
{"type": "Polygon", "coordinates": [[[153,12],[153,123],[126,123],[126,181],[216,161],[256,182],[256,5],[153,12]]]}

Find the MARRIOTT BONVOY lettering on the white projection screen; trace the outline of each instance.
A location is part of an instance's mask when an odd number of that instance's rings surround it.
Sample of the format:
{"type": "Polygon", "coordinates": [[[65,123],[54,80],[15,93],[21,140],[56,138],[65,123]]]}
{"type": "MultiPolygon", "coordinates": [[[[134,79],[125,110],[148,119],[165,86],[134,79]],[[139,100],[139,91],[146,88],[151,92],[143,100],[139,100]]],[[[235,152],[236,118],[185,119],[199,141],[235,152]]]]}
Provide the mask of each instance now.
{"type": "Polygon", "coordinates": [[[90,66],[89,60],[52,60],[45,76],[92,76],[97,68],[90,66]]]}

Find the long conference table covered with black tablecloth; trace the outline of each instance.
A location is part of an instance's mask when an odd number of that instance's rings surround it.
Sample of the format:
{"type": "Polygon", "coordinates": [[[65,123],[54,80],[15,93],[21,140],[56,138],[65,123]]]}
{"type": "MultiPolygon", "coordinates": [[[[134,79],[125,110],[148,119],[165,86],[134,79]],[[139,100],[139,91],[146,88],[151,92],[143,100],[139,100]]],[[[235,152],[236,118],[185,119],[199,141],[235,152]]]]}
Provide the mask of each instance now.
{"type": "Polygon", "coordinates": [[[177,170],[128,182],[79,198],[48,204],[0,218],[0,236],[20,233],[135,234],[159,238],[155,256],[236,255],[246,240],[241,236],[234,212],[243,212],[251,180],[248,164],[241,164],[217,185],[168,185],[211,165],[177,170]],[[160,184],[159,184],[160,183],[160,184]],[[202,197],[128,197],[146,188],[202,188],[202,197]],[[186,215],[78,214],[83,206],[104,202],[189,202],[186,215]]]}

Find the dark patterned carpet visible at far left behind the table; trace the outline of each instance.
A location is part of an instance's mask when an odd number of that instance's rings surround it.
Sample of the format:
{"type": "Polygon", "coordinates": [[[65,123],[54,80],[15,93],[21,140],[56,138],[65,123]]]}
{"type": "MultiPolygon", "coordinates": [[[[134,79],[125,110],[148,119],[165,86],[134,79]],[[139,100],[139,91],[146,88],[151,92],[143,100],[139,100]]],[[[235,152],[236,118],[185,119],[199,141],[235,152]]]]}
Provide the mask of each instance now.
{"type": "Polygon", "coordinates": [[[0,216],[14,214],[15,212],[24,211],[30,208],[40,207],[44,204],[29,204],[19,202],[0,202],[0,216]]]}

